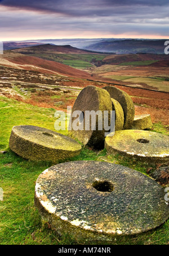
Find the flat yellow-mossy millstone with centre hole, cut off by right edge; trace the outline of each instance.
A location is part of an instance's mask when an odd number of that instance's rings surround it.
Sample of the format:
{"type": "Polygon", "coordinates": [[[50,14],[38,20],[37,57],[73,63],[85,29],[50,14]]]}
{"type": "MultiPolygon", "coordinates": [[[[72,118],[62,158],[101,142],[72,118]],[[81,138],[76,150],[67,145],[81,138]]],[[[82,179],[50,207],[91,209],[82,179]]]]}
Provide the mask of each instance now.
{"type": "Polygon", "coordinates": [[[120,153],[141,161],[169,160],[169,136],[153,131],[115,131],[106,136],[105,148],[110,155],[120,153]]]}

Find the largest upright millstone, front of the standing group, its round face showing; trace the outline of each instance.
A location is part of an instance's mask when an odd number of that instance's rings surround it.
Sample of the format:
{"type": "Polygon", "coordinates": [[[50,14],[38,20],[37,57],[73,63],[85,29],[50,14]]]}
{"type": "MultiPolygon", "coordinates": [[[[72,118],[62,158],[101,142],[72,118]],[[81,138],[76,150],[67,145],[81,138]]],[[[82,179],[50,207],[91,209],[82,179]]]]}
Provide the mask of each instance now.
{"type": "MultiPolygon", "coordinates": [[[[109,112],[108,125],[110,125],[110,111],[112,111],[112,101],[109,93],[96,86],[85,87],[75,100],[72,113],[74,111],[81,111],[83,113],[82,118],[80,118],[80,120],[82,119],[80,122],[83,122],[83,130],[75,131],[72,129],[72,134],[79,140],[79,142],[83,143],[83,145],[88,145],[94,148],[104,148],[105,132],[108,132],[104,129],[104,111],[109,112]],[[86,130],[85,111],[101,111],[102,116],[96,116],[95,130],[92,130],[91,118],[88,122],[88,130],[86,130]],[[98,122],[103,124],[102,130],[98,129],[98,122]]],[[[72,117],[72,119],[70,119],[69,127],[72,127],[72,124],[76,119],[77,117],[72,117]]]]}

